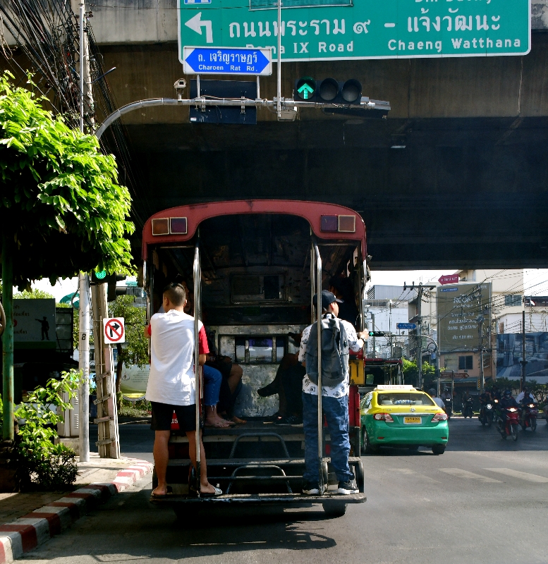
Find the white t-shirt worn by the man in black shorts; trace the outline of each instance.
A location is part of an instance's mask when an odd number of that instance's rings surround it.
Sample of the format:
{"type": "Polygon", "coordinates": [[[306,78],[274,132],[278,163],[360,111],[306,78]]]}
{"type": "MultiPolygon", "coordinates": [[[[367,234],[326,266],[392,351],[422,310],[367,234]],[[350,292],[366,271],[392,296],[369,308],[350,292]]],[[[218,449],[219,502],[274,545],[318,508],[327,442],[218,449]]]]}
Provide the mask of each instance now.
{"type": "MultiPolygon", "coordinates": [[[[202,321],[199,322],[200,329],[202,321]]],[[[194,317],[170,309],[150,318],[149,401],[171,405],[193,405],[194,317]]]]}

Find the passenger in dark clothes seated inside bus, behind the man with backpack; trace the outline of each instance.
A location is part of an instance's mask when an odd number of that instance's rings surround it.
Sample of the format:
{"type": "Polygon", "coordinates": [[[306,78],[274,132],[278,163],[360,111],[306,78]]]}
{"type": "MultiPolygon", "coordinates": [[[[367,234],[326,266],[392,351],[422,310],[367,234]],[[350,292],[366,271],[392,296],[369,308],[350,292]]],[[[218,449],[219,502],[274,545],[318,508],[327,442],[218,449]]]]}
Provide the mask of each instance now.
{"type": "MultiPolygon", "coordinates": [[[[350,278],[343,276],[331,276],[329,279],[329,292],[335,295],[339,304],[339,319],[344,319],[356,327],[358,319],[358,308],[353,297],[353,285],[350,278]]],[[[289,336],[300,345],[300,334],[289,333],[289,336]]],[[[282,358],[278,372],[274,380],[260,388],[257,393],[263,398],[268,396],[279,396],[279,410],[274,415],[274,423],[300,424],[303,422],[303,401],[301,388],[303,386],[304,367],[298,362],[298,355],[287,353],[282,358]]]]}

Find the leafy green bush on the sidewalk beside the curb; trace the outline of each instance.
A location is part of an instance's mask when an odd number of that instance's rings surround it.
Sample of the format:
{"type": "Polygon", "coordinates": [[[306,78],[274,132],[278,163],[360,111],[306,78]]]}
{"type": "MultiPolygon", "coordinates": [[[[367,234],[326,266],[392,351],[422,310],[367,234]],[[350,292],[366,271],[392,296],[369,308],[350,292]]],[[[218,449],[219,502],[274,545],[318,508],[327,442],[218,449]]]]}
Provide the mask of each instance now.
{"type": "Polygon", "coordinates": [[[55,445],[56,425],[63,421],[57,415],[71,409],[70,400],[78,391],[81,372],[63,372],[61,379],[51,379],[46,387],[38,386],[16,410],[24,419],[18,433],[19,479],[22,489],[62,489],[75,482],[78,467],[74,452],[62,444],[55,445]],[[61,394],[68,394],[68,402],[61,394]]]}

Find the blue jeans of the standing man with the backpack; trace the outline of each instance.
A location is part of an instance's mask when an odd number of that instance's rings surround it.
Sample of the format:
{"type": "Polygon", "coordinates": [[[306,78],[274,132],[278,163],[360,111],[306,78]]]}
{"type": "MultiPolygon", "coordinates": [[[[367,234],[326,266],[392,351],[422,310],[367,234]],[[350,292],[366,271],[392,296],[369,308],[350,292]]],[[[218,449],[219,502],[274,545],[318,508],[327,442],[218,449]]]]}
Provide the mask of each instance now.
{"type": "MultiPolygon", "coordinates": [[[[322,396],[322,411],[327,419],[331,436],[331,467],[339,482],[348,482],[354,475],[348,465],[350,439],[348,438],[348,396],[327,398],[322,396]]],[[[305,431],[305,482],[319,482],[318,461],[318,398],[303,392],[303,428],[305,431]]]]}

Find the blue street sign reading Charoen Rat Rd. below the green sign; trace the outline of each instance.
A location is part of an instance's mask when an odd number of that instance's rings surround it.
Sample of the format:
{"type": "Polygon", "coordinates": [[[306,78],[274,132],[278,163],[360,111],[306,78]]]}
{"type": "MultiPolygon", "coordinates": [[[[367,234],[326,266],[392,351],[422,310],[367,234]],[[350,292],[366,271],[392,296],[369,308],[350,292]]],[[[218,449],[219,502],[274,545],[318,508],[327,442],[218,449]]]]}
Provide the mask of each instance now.
{"type": "MultiPolygon", "coordinates": [[[[199,29],[201,32],[201,27],[199,29]]],[[[183,72],[187,75],[269,76],[272,75],[272,49],[183,47],[183,72]]]]}

